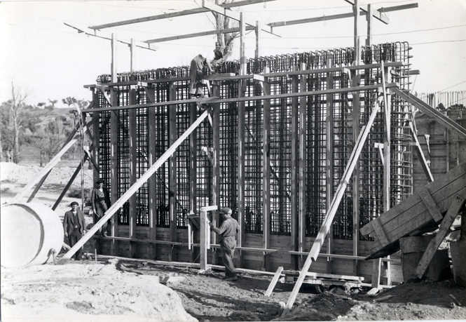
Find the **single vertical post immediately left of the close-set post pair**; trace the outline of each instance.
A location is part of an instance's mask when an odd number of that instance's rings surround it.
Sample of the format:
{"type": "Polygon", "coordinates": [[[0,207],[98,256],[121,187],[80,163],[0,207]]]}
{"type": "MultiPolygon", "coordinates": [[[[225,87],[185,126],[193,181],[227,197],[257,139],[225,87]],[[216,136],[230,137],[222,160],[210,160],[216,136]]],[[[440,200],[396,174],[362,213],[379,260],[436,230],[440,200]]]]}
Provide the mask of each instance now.
{"type": "MultiPolygon", "coordinates": [[[[264,73],[269,72],[268,67],[264,67],[264,73]]],[[[268,77],[263,82],[263,95],[270,94],[270,83],[268,77]]],[[[262,180],[263,180],[263,235],[262,247],[269,248],[270,235],[270,100],[263,100],[263,135],[262,135],[262,180]]],[[[264,255],[267,256],[267,255],[264,255]]],[[[267,267],[264,257],[263,267],[267,267]]]]}

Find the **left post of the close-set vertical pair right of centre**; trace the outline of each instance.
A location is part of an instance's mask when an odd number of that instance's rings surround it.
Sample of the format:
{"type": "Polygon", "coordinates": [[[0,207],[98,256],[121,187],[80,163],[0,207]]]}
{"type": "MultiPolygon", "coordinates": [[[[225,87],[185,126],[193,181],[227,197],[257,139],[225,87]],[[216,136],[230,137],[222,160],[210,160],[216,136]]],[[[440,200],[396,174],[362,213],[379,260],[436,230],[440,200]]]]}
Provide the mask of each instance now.
{"type": "MultiPolygon", "coordinates": [[[[294,66],[293,70],[296,71],[297,67],[294,66]]],[[[299,91],[299,76],[292,76],[292,93],[298,93],[299,91]]],[[[292,149],[292,156],[291,156],[291,180],[292,180],[292,187],[291,187],[291,218],[292,218],[292,245],[293,250],[298,249],[299,245],[299,195],[298,195],[298,175],[299,175],[299,142],[298,142],[298,131],[299,131],[299,105],[298,105],[298,98],[292,98],[292,137],[291,137],[291,149],[292,149]]],[[[298,269],[299,264],[299,257],[293,256],[293,265],[295,269],[298,269]]]]}

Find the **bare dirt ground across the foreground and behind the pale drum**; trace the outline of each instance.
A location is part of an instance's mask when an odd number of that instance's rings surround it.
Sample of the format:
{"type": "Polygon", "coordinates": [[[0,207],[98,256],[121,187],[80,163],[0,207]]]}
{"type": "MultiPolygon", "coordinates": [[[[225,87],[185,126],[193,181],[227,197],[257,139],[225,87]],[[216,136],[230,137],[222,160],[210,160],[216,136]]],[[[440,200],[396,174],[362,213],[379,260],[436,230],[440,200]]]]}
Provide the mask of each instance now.
{"type": "MultiPolygon", "coordinates": [[[[17,175],[13,181],[4,163],[0,166],[5,203],[28,177],[17,175]]],[[[46,184],[36,201],[51,206],[64,183],[46,184]]],[[[55,213],[62,217],[73,200],[66,197],[55,213]]],[[[86,221],[92,219],[86,216],[86,221]]],[[[270,275],[239,274],[238,281],[222,276],[217,270],[200,274],[199,269],[99,256],[64,265],[1,267],[1,321],[466,320],[466,289],[453,280],[402,283],[375,295],[368,294],[371,288],[317,294],[303,285],[292,311],[281,318],[280,307],[294,283],[279,282],[266,297],[270,275]]]]}

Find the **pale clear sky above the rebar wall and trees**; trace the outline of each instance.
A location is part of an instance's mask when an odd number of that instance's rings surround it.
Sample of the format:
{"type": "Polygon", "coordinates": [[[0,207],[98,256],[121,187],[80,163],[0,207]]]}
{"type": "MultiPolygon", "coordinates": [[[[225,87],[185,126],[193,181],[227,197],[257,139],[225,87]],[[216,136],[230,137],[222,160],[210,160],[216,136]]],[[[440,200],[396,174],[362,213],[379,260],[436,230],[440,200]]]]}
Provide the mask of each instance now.
{"type": "MultiPolygon", "coordinates": [[[[387,13],[390,22],[374,20],[373,43],[407,41],[411,50],[413,76],[411,89],[417,93],[466,90],[466,0],[359,0],[375,9],[418,4],[418,8],[387,13]]],[[[15,88],[27,93],[27,103],[58,100],[69,96],[91,100],[85,85],[97,83],[97,76],[111,72],[111,41],[78,33],[94,34],[90,26],[103,25],[151,15],[161,15],[202,7],[202,0],[172,1],[1,1],[0,3],[0,102],[11,99],[15,88]]],[[[239,9],[233,9],[238,11],[239,9]]],[[[249,20],[262,23],[297,20],[350,13],[344,0],[275,0],[242,6],[249,20]]],[[[144,41],[167,36],[205,32],[214,28],[211,13],[198,13],[97,31],[98,36],[147,46],[144,41]]],[[[261,55],[302,53],[353,46],[353,19],[311,22],[275,27],[263,34],[261,55]]],[[[359,19],[361,43],[366,38],[366,20],[359,19]]],[[[213,58],[216,38],[202,36],[154,43],[149,51],[136,48],[134,70],[189,65],[198,53],[213,58]]],[[[254,57],[254,32],[245,36],[247,58],[254,57]]],[[[118,43],[117,71],[130,71],[130,48],[118,43]]],[[[232,60],[239,59],[239,41],[235,42],[232,60]]]]}

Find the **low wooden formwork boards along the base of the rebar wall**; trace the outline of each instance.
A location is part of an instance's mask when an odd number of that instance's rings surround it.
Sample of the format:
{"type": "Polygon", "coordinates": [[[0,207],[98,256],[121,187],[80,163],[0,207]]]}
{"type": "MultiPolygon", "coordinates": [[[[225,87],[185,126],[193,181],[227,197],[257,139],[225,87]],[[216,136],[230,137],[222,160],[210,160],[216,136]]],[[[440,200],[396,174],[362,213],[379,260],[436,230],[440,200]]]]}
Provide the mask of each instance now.
{"type": "MultiPolygon", "coordinates": [[[[129,236],[129,227],[120,226],[118,227],[118,234],[120,237],[129,236]]],[[[149,228],[148,227],[137,227],[135,237],[137,239],[148,239],[149,228]]],[[[187,230],[186,229],[177,229],[177,242],[187,243],[187,230]]],[[[157,240],[158,241],[170,241],[170,229],[167,228],[158,228],[157,229],[157,240]]],[[[306,238],[306,247],[307,250],[310,249],[313,245],[314,238],[306,238]]],[[[104,255],[111,254],[111,240],[102,240],[101,243],[101,252],[104,255]]],[[[121,257],[132,257],[130,250],[130,241],[116,241],[118,243],[118,254],[114,254],[121,257]]],[[[334,239],[333,247],[334,253],[338,255],[352,255],[352,240],[344,239],[334,239]]],[[[359,241],[359,255],[366,256],[370,255],[369,245],[371,241],[359,241]]],[[[245,245],[243,247],[248,248],[261,248],[262,245],[262,235],[260,234],[246,234],[245,245]]],[[[327,241],[324,243],[325,249],[327,246],[327,241]]],[[[135,247],[135,257],[141,259],[151,259],[151,260],[163,260],[163,261],[175,261],[175,262],[192,262],[191,261],[191,250],[187,246],[174,246],[174,257],[172,257],[172,246],[160,243],[148,243],[148,242],[137,242],[133,244],[135,247]],[[156,248],[156,257],[153,258],[151,254],[151,248],[156,248]]],[[[285,269],[292,269],[292,255],[289,250],[292,249],[291,236],[282,236],[282,235],[272,235],[270,236],[270,248],[277,250],[276,253],[270,253],[269,262],[270,262],[270,271],[276,271],[278,267],[284,267],[285,269]]],[[[212,263],[214,259],[214,251],[217,248],[211,248],[207,251],[207,262],[212,263]]],[[[243,250],[243,266],[245,269],[254,269],[261,271],[263,270],[263,260],[264,256],[262,252],[259,251],[248,251],[243,250]]],[[[219,259],[219,264],[222,264],[221,250],[217,249],[217,255],[219,259]]],[[[238,267],[238,262],[240,258],[240,250],[235,251],[235,265],[238,267]]],[[[399,256],[396,255],[395,258],[399,259],[399,256]]],[[[303,255],[303,261],[306,260],[306,255],[303,255]]],[[[354,275],[354,261],[355,260],[345,260],[345,259],[334,259],[332,262],[332,271],[330,274],[338,275],[354,275]]],[[[359,273],[358,276],[364,277],[364,283],[371,283],[372,276],[372,261],[371,260],[359,260],[359,273]]],[[[327,271],[327,257],[325,255],[320,255],[317,257],[317,261],[313,262],[311,265],[310,272],[315,273],[329,273],[327,271]]],[[[400,264],[391,264],[390,267],[391,279],[395,283],[403,281],[402,269],[400,264]]]]}

